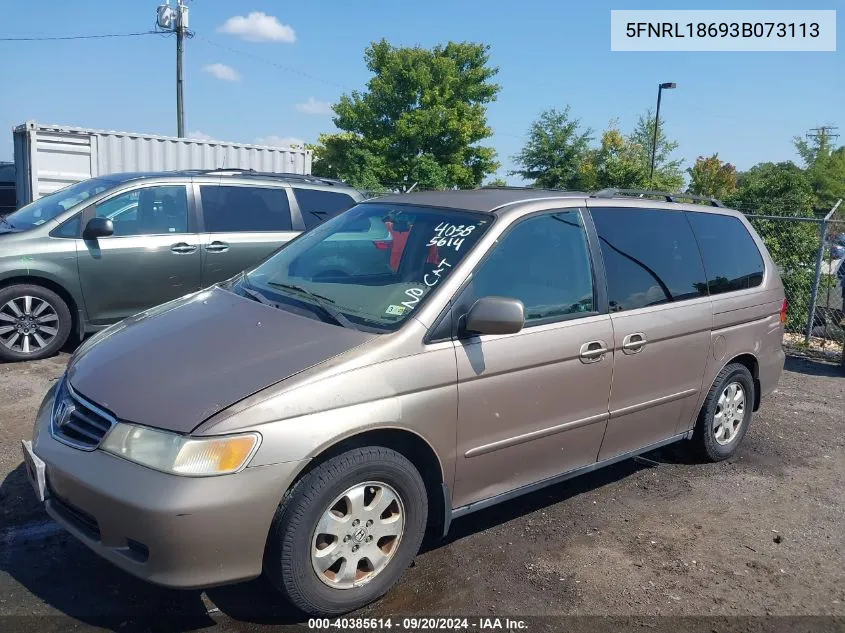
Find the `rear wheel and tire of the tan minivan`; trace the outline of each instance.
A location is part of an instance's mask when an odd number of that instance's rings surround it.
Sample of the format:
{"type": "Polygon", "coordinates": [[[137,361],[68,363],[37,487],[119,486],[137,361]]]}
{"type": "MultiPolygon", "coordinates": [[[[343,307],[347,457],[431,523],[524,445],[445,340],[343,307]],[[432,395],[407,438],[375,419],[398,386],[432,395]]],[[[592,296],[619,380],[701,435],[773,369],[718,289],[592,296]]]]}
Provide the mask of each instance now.
{"type": "Polygon", "coordinates": [[[754,378],[745,365],[731,363],[719,372],[693,434],[703,459],[718,462],[736,452],[751,423],[755,398],[754,378]]]}

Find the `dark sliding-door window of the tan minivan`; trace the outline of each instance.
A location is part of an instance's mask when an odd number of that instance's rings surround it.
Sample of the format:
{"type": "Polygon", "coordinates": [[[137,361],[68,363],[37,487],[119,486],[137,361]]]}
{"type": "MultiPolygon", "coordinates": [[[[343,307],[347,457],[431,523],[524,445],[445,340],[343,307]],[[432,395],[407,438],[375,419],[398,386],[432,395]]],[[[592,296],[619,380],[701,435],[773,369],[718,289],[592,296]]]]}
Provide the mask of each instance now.
{"type": "Polygon", "coordinates": [[[686,214],[660,209],[592,209],[611,312],[707,294],[701,255],[686,214]]]}

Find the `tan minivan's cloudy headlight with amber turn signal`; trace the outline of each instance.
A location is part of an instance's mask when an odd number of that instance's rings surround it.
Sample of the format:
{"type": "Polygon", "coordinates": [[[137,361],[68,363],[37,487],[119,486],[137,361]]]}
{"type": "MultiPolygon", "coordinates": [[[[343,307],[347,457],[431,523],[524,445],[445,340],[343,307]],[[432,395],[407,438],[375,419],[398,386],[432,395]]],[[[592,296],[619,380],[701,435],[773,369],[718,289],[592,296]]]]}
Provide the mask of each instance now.
{"type": "Polygon", "coordinates": [[[258,433],[195,438],[118,423],[109,431],[100,448],[155,470],[205,477],[240,470],[255,453],[260,441],[258,433]]]}

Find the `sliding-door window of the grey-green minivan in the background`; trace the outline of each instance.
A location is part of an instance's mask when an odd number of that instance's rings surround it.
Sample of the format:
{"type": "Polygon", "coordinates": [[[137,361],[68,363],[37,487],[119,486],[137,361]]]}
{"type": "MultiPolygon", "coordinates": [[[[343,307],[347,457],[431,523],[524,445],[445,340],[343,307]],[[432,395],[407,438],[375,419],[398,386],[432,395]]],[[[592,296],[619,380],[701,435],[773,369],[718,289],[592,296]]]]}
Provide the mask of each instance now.
{"type": "Polygon", "coordinates": [[[290,231],[290,204],[281,187],[201,185],[207,233],[290,231]]]}

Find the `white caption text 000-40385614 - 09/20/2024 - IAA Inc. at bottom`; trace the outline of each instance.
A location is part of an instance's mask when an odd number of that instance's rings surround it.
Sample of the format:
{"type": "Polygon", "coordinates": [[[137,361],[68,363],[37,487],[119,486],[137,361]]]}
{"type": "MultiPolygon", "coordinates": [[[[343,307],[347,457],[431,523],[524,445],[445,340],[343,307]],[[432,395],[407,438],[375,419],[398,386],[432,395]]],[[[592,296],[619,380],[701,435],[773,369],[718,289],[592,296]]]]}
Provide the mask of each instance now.
{"type": "Polygon", "coordinates": [[[518,618],[311,618],[308,628],[312,630],[371,630],[389,631],[518,631],[527,629],[525,620],[518,618]]]}

